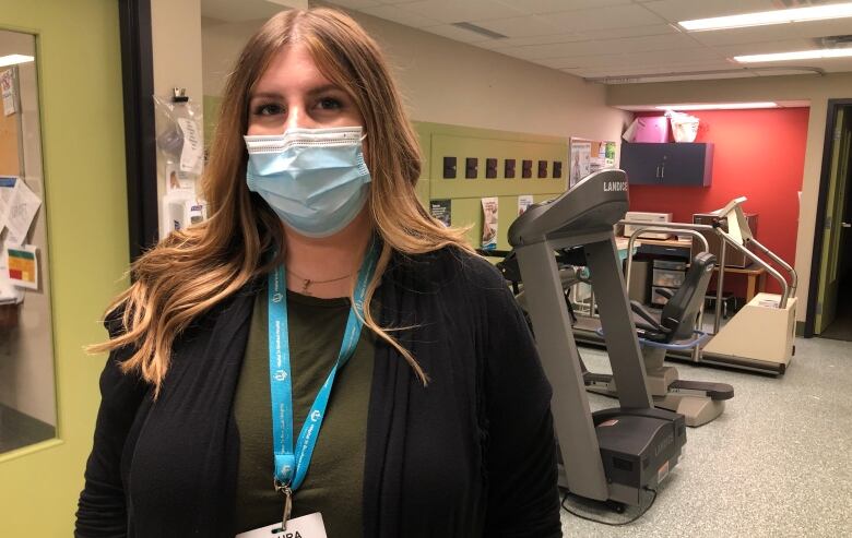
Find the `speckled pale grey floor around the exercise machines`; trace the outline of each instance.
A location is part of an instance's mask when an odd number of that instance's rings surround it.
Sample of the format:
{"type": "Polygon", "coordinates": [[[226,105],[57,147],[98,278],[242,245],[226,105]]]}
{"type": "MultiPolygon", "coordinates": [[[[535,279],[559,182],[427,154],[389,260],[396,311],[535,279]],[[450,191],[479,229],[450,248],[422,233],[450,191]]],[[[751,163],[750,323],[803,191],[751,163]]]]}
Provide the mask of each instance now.
{"type": "MultiPolygon", "coordinates": [[[[610,371],[605,351],[580,354],[590,370],[610,371]]],[[[715,421],[687,430],[684,458],[644,516],[607,527],[563,512],[566,537],[852,536],[852,343],[798,338],[779,378],[671,363],[682,379],[732,384],[734,398],[715,421]]],[[[593,410],[617,405],[589,400],[593,410]]]]}

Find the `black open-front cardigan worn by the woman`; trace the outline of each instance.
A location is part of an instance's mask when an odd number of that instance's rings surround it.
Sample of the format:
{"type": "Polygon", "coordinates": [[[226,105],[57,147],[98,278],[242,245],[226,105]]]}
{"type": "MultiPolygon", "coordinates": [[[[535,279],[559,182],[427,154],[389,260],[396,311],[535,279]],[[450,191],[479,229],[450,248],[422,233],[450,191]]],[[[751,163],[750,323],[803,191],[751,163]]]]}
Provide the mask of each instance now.
{"type": "MultiPolygon", "coordinates": [[[[110,354],[75,536],[234,536],[233,399],[256,292],[175,342],[156,402],[118,369],[128,350],[110,354]]],[[[561,536],[551,387],[499,273],[454,248],[394,255],[377,299],[382,326],[415,327],[394,334],[429,384],[379,340],[364,536],[561,536]]]]}

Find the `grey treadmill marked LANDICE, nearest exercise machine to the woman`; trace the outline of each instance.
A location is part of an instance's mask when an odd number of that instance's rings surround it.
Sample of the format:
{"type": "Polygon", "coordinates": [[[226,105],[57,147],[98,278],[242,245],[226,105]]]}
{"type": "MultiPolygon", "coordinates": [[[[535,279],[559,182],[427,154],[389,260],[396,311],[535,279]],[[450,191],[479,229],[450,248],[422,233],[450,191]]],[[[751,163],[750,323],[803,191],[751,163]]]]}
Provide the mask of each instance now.
{"type": "Polygon", "coordinates": [[[677,465],[683,415],[656,409],[625,291],[613,225],[628,207],[627,176],[607,169],[530,206],[509,228],[545,374],[561,462],[559,483],[597,501],[639,505],[677,465]],[[591,272],[619,407],[590,413],[556,255],[579,252],[591,272]]]}

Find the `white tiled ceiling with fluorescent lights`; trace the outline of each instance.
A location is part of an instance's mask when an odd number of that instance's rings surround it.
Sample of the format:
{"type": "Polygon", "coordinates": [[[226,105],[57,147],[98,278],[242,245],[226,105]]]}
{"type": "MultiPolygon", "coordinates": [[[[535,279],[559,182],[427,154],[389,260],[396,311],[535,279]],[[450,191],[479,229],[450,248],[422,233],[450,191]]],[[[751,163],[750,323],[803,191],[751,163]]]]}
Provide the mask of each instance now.
{"type": "MultiPolygon", "coordinates": [[[[852,34],[852,19],[687,33],[677,21],[837,3],[837,0],[324,0],[475,47],[608,83],[852,71],[852,59],[756,63],[738,55],[821,48],[820,37],[852,34]],[[470,23],[506,37],[453,26],[470,23]],[[798,69],[806,68],[806,69],[798,69]]],[[[202,0],[202,14],[265,17],[263,0],[202,0]]],[[[852,46],[847,45],[847,46],[852,46]]]]}

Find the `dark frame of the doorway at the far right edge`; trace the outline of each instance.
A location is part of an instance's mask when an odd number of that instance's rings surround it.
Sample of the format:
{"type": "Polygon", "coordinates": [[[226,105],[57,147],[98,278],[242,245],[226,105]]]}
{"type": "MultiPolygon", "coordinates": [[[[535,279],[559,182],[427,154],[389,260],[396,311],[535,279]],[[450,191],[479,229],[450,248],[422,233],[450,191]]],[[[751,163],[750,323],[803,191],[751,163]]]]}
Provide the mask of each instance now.
{"type": "Polygon", "coordinates": [[[805,315],[805,338],[815,335],[817,296],[819,295],[819,265],[823,259],[823,236],[825,232],[828,188],[831,183],[831,148],[833,146],[835,118],[840,107],[852,107],[852,99],[828,99],[826,135],[823,142],[823,170],[819,174],[819,198],[817,200],[816,224],[814,226],[814,253],[810,256],[810,278],[807,287],[807,313],[805,315]]]}

